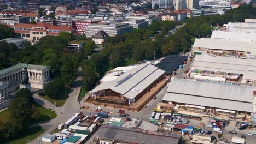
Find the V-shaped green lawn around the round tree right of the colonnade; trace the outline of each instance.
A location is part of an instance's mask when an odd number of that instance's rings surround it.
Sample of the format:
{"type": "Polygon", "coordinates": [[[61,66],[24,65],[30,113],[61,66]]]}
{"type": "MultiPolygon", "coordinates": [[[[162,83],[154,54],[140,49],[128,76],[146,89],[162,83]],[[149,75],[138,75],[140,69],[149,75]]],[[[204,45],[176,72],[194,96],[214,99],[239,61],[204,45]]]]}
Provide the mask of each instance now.
{"type": "Polygon", "coordinates": [[[56,106],[62,106],[65,104],[69,93],[71,93],[71,89],[66,88],[66,95],[65,95],[65,89],[63,89],[63,91],[61,91],[61,93],[55,99],[51,99],[47,95],[39,95],[39,96],[45,100],[48,100],[52,104],[54,104],[54,102],[56,101],[56,106]]]}

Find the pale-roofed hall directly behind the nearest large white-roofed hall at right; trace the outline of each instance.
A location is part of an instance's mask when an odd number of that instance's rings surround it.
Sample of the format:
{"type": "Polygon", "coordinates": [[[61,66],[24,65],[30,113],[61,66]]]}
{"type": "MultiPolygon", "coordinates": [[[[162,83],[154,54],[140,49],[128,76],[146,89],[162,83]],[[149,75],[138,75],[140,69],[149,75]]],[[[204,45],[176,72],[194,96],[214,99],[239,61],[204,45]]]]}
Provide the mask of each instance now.
{"type": "Polygon", "coordinates": [[[242,76],[242,83],[256,84],[256,59],[196,55],[190,69],[200,75],[242,76]]]}

